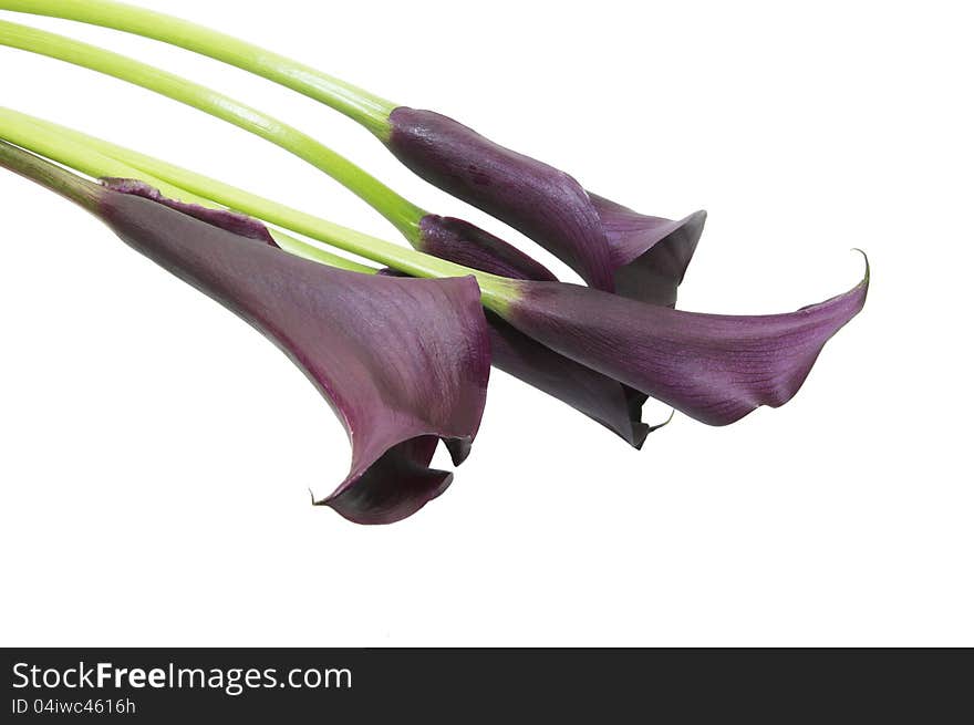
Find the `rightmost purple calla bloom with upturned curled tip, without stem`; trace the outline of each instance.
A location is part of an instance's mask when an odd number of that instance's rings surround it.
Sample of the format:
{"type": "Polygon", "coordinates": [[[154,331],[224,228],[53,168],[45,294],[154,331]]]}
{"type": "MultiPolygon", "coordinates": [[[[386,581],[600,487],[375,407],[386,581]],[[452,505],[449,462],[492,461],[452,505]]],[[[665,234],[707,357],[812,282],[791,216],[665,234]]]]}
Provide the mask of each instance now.
{"type": "Polygon", "coordinates": [[[506,319],[525,334],[711,425],[777,407],[866,303],[853,289],[797,312],[684,312],[561,282],[519,282],[506,319]]]}

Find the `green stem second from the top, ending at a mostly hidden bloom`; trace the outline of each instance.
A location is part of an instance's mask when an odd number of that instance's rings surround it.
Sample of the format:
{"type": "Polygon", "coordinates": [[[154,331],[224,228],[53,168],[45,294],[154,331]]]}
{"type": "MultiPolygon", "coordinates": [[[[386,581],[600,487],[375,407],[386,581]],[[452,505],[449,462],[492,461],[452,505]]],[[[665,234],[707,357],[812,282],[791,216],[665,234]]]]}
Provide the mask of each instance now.
{"type": "Polygon", "coordinates": [[[0,20],[0,44],[127,81],[249,131],[307,160],[348,187],[388,219],[411,244],[417,239],[418,224],[426,211],[344,156],[273,116],[152,65],[43,30],[0,20]]]}

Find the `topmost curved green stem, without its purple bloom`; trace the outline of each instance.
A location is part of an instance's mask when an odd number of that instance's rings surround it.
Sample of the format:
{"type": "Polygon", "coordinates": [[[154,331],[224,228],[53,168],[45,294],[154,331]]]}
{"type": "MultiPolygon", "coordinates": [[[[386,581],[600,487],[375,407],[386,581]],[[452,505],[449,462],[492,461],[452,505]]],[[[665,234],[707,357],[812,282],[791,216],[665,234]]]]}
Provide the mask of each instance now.
{"type": "Polygon", "coordinates": [[[320,101],[383,139],[397,105],[252,43],[144,8],[106,0],[0,0],[0,9],[112,28],[208,55],[320,101]]]}

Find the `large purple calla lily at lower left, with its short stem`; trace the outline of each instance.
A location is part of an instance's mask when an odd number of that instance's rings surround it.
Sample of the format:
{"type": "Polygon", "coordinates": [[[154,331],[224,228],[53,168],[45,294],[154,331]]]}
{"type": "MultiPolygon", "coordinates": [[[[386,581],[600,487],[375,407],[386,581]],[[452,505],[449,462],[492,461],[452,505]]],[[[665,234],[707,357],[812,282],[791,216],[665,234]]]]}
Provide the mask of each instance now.
{"type": "Polygon", "coordinates": [[[0,142],[0,166],[79,203],[125,242],[234,311],[308,375],[341,417],[352,465],[317,501],[360,524],[405,518],[452,474],[438,441],[468,455],[490,369],[473,278],[395,279],[279,249],[259,222],[160,198],[137,182],[99,186],[0,142]]]}

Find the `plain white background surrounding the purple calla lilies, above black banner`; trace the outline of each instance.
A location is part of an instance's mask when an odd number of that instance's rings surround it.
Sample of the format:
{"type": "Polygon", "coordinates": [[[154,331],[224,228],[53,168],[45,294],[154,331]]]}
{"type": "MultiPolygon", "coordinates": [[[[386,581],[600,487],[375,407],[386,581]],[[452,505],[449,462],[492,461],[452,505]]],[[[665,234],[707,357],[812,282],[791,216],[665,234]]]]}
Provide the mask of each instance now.
{"type": "MultiPolygon", "coordinates": [[[[0,174],[3,644],[974,644],[963,3],[144,4],[447,113],[642,211],[708,209],[685,309],[819,301],[859,280],[851,247],[872,289],[789,405],[726,428],[677,416],[641,453],[495,372],[454,486],[359,527],[310,506],[349,449],[280,352],[0,174]]],[[[271,111],[572,279],[314,102],[152,41],[0,14],[271,111]]],[[[297,158],[149,92],[8,49],[0,87],[396,239],[297,158]]]]}

